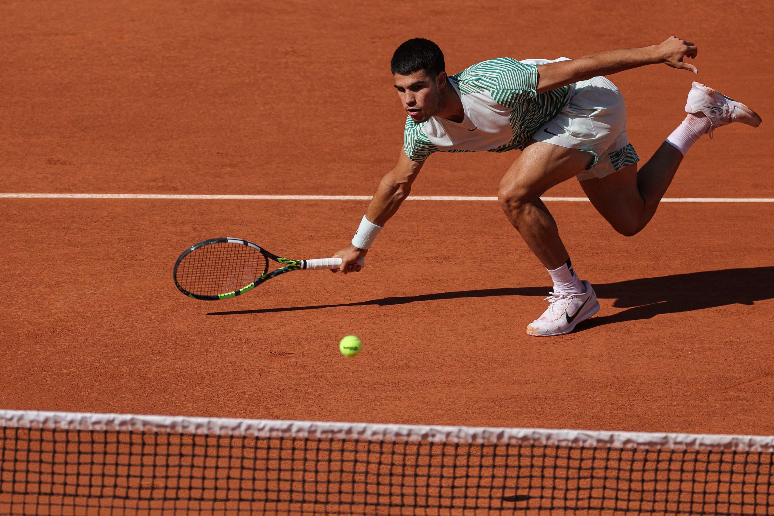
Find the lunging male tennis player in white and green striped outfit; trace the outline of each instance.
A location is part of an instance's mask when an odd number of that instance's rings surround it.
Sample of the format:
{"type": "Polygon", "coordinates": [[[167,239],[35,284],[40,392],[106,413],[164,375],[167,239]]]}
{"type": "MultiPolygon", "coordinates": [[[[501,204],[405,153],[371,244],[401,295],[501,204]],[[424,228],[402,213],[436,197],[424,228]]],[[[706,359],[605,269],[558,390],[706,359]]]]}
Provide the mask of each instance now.
{"type": "Polygon", "coordinates": [[[694,43],[670,37],[660,45],[591,53],[576,60],[518,61],[501,57],[447,76],[444,54],[429,40],[403,43],[392,56],[395,88],[408,112],[403,152],[374,194],[341,271],[358,272],[378,232],[408,197],[424,161],[435,152],[487,150],[522,153],[500,181],[505,215],[553,280],[549,307],[527,326],[535,336],[562,335],[599,311],[594,288],[579,280],[540,195],[577,177],[591,204],[622,235],[642,230],[697,139],[717,127],[741,122],[758,127],[752,109],[694,82],[688,115],[650,160],[639,157],[626,135],[621,92],[601,77],[647,64],[697,73],[683,62],[694,43]]]}

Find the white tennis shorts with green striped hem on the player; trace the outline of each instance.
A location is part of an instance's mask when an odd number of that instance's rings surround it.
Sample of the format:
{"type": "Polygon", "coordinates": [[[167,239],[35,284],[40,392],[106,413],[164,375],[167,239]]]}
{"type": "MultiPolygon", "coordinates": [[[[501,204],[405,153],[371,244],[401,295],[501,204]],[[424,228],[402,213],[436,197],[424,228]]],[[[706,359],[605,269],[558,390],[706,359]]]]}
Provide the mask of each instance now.
{"type": "Polygon", "coordinates": [[[639,157],[626,135],[626,105],[615,84],[593,77],[571,88],[570,102],[533,139],[591,153],[594,160],[577,175],[578,181],[605,177],[637,163],[639,157]]]}

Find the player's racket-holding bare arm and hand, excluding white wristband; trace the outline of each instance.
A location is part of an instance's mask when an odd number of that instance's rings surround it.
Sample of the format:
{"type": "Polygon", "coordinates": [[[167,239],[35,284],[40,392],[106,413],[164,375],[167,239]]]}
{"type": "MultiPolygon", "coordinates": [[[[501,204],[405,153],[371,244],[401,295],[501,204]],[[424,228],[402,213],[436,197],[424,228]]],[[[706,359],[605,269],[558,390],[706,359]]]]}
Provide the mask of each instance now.
{"type": "MultiPolygon", "coordinates": [[[[396,214],[401,203],[409,197],[411,185],[422,170],[423,164],[424,161],[411,160],[406,156],[406,153],[401,151],[398,163],[382,177],[382,181],[379,181],[376,193],[365,212],[365,218],[368,219],[368,222],[375,225],[385,225],[392,215],[396,214]]],[[[339,270],[346,274],[360,272],[361,266],[358,265],[357,261],[366,253],[368,253],[368,249],[358,249],[350,243],[334,256],[341,256],[339,270]]],[[[333,270],[333,272],[337,271],[333,270]]]]}

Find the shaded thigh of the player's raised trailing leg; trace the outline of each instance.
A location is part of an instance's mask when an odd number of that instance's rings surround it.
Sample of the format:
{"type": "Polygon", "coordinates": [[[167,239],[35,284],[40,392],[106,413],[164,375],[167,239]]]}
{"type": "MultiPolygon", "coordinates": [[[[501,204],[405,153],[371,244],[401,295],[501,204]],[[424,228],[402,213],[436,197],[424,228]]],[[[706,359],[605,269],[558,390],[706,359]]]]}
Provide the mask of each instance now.
{"type": "Polygon", "coordinates": [[[614,174],[579,181],[591,204],[619,232],[631,232],[639,222],[644,201],[637,189],[637,163],[614,174]]]}

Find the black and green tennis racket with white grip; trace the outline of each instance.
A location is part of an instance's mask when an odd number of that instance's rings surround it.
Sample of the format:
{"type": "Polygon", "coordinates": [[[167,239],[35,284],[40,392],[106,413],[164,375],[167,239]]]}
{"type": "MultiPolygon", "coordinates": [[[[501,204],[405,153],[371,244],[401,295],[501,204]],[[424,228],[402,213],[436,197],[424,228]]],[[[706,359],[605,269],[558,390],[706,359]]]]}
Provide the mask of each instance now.
{"type": "MultiPolygon", "coordinates": [[[[362,261],[360,262],[362,265],[362,261]]],[[[290,260],[243,239],[209,239],[190,246],[175,262],[175,285],[189,298],[233,298],[291,270],[337,269],[341,258],[290,260]],[[285,267],[269,272],[269,260],[285,267]]]]}

